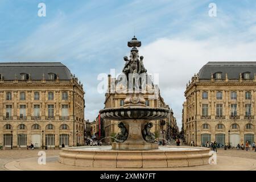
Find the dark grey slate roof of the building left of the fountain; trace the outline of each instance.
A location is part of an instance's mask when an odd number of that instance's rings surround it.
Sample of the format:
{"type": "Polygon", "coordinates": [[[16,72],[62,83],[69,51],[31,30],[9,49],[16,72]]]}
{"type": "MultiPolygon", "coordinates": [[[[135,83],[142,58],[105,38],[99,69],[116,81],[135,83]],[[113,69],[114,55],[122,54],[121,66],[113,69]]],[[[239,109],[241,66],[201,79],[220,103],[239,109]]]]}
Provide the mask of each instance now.
{"type": "Polygon", "coordinates": [[[60,80],[71,80],[71,72],[62,63],[0,63],[0,75],[4,80],[14,80],[15,74],[20,80],[20,73],[31,74],[31,80],[48,80],[48,73],[59,74],[60,80]]]}

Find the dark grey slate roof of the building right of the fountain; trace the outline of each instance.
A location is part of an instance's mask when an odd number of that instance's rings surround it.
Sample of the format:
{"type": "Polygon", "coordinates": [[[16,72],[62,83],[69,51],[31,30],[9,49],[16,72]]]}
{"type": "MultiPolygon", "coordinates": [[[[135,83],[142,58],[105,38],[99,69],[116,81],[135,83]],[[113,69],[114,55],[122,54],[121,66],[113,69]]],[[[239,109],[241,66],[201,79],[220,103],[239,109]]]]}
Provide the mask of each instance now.
{"type": "Polygon", "coordinates": [[[225,78],[228,73],[229,79],[238,79],[240,73],[250,73],[250,78],[254,78],[256,73],[256,61],[223,61],[223,62],[208,62],[199,71],[200,79],[210,79],[211,74],[221,72],[221,78],[225,78]]]}

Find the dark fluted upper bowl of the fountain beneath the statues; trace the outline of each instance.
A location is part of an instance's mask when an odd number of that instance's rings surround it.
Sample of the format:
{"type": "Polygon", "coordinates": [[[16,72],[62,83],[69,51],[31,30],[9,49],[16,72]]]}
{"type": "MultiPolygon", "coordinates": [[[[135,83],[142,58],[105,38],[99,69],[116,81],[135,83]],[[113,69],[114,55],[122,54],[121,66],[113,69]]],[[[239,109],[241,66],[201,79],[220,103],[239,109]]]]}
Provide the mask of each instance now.
{"type": "Polygon", "coordinates": [[[147,119],[158,120],[168,117],[169,109],[162,107],[118,107],[100,110],[101,118],[112,120],[147,119]]]}

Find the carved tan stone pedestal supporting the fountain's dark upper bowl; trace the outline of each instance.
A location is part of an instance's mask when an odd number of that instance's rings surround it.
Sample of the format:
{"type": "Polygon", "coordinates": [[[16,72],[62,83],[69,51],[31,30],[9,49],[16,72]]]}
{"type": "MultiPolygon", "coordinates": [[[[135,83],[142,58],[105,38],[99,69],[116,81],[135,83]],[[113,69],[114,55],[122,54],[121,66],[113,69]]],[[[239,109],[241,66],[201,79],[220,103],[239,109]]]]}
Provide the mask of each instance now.
{"type": "Polygon", "coordinates": [[[158,143],[148,143],[142,136],[144,125],[148,122],[145,119],[121,120],[127,128],[128,137],[125,142],[112,143],[113,150],[154,150],[158,149],[158,143]]]}

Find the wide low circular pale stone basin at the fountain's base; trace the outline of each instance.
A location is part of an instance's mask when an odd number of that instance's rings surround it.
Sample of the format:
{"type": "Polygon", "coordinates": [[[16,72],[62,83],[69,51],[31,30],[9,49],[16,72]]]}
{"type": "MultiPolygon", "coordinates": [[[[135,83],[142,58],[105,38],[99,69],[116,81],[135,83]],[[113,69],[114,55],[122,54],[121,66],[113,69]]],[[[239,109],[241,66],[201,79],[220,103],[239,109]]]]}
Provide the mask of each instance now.
{"type": "Polygon", "coordinates": [[[162,146],[157,150],[112,150],[110,146],[67,147],[60,151],[62,164],[96,168],[169,168],[209,164],[209,148],[162,146]]]}

